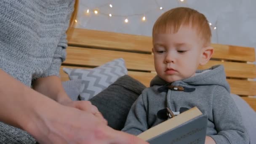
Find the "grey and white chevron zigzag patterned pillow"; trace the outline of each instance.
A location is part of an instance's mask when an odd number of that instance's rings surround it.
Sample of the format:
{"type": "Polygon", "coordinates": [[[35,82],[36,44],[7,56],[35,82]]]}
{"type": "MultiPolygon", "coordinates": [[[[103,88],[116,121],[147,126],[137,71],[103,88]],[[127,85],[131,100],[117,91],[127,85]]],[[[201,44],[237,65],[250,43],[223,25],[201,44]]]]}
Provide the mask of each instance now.
{"type": "Polygon", "coordinates": [[[70,80],[81,80],[80,99],[88,100],[106,89],[119,77],[127,75],[124,59],[115,59],[94,69],[63,68],[70,80]]]}

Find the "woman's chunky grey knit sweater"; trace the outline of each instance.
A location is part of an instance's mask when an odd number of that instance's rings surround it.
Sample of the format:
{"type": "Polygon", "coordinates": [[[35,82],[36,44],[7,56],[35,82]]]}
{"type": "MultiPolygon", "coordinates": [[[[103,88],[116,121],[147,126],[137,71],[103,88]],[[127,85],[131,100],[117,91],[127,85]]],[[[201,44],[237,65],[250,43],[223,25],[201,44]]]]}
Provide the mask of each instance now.
{"type": "MultiPolygon", "coordinates": [[[[59,75],[73,7],[74,0],[0,0],[0,69],[27,86],[38,77],[59,75]]],[[[0,144],[35,142],[0,122],[0,144]]]]}

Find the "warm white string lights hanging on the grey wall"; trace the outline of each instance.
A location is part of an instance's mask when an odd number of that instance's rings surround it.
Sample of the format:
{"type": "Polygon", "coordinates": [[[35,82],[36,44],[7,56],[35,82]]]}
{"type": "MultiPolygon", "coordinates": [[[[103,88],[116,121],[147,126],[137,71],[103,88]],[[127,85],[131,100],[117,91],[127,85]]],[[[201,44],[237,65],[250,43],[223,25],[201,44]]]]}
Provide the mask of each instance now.
{"type": "MultiPolygon", "coordinates": [[[[181,3],[185,3],[185,0],[177,0],[177,2],[178,1],[180,1],[181,3]]],[[[157,2],[157,0],[155,0],[155,3],[157,4],[157,9],[158,9],[158,11],[159,10],[163,10],[164,8],[161,6],[161,5],[159,5],[159,3],[157,2]]],[[[128,22],[129,22],[129,20],[128,20],[128,18],[129,17],[132,17],[132,16],[141,16],[141,21],[143,21],[143,22],[145,22],[146,21],[146,16],[145,15],[147,15],[148,13],[150,13],[150,12],[152,12],[152,10],[150,10],[150,11],[146,11],[146,12],[144,12],[144,13],[136,13],[136,14],[131,14],[131,15],[119,15],[119,14],[114,14],[114,13],[104,13],[104,12],[99,12],[99,9],[100,8],[103,8],[103,7],[106,7],[106,6],[109,6],[109,8],[113,8],[113,5],[111,4],[111,3],[106,3],[106,4],[103,4],[103,5],[101,5],[101,6],[99,6],[99,7],[97,7],[97,8],[89,8],[88,6],[86,6],[86,5],[84,5],[84,4],[82,4],[84,7],[86,7],[86,8],[88,8],[86,11],[85,11],[85,14],[90,14],[90,11],[93,11],[93,13],[95,14],[95,15],[104,15],[104,16],[108,16],[108,17],[123,17],[123,19],[124,19],[124,22],[125,22],[125,24],[127,24],[128,22]]],[[[77,20],[75,20],[75,22],[77,23],[77,20]]],[[[216,25],[216,24],[215,24],[216,25]]],[[[216,30],[217,29],[217,27],[216,26],[213,26],[213,24],[211,23],[211,22],[209,22],[209,26],[212,28],[212,29],[214,29],[214,30],[216,30]]]]}

